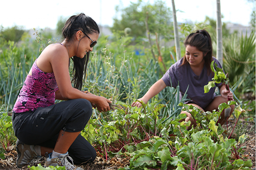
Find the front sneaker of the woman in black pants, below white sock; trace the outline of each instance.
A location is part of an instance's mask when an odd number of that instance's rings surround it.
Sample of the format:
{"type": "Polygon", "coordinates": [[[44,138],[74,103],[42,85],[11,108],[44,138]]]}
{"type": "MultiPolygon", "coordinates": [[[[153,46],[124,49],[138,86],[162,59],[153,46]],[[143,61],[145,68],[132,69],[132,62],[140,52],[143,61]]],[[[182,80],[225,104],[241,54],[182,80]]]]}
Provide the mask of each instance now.
{"type": "Polygon", "coordinates": [[[76,167],[73,165],[73,159],[70,156],[68,156],[68,152],[60,154],[60,157],[52,158],[52,153],[49,153],[48,156],[49,157],[46,159],[46,162],[45,162],[45,167],[48,167],[48,166],[63,167],[63,166],[65,166],[66,170],[83,170],[82,168],[79,168],[79,167],[76,167]],[[70,163],[67,160],[67,158],[70,159],[72,161],[72,163],[70,163]]]}

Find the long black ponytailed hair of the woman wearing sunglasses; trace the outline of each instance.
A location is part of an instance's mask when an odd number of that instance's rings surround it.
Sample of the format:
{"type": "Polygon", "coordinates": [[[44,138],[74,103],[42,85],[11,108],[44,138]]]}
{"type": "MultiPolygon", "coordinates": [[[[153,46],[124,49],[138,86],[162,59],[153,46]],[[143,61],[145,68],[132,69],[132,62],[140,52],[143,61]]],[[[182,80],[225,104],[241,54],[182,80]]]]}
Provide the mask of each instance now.
{"type": "MultiPolygon", "coordinates": [[[[63,38],[66,38],[68,42],[71,42],[73,41],[73,36],[77,30],[81,30],[86,34],[91,34],[93,32],[100,34],[100,29],[97,23],[91,17],[86,16],[84,13],[80,13],[77,16],[71,16],[67,19],[65,26],[62,29],[62,36],[63,38]]],[[[89,56],[90,52],[87,52],[86,56],[83,58],[78,58],[76,56],[71,58],[73,61],[72,83],[74,84],[73,86],[79,90],[82,88],[83,78],[86,75],[89,56]]]]}

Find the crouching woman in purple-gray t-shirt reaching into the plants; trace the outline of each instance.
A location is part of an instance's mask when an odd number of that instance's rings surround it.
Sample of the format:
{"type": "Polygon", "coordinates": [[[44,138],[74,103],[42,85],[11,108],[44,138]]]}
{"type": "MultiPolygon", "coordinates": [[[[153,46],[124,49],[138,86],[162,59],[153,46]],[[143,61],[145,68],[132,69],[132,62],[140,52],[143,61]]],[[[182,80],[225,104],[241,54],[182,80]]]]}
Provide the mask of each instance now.
{"type": "MultiPolygon", "coordinates": [[[[233,100],[232,92],[228,92],[222,83],[215,84],[219,87],[221,95],[215,95],[215,87],[211,88],[208,93],[204,93],[204,86],[209,81],[212,81],[214,77],[214,73],[210,68],[211,62],[214,61],[219,68],[222,68],[219,61],[212,56],[213,48],[209,33],[205,30],[191,33],[186,37],[184,45],[186,48],[185,56],[174,63],[164,76],[153,84],[149,91],[138,100],[147,103],[150,98],[161,92],[166,86],[176,88],[178,84],[182,94],[185,93],[189,86],[186,94],[188,94],[190,101],[186,102],[186,104],[198,107],[203,112],[218,110],[219,104],[227,102],[228,97],[233,100]]],[[[141,107],[141,103],[133,102],[132,107],[134,106],[141,107]]],[[[234,107],[234,105],[231,106],[230,114],[234,111],[234,107]]],[[[191,126],[193,124],[194,126],[196,125],[190,113],[185,111],[181,113],[186,113],[186,122],[191,121],[191,126]]],[[[221,113],[220,123],[221,125],[225,123],[224,113],[221,113]]]]}

